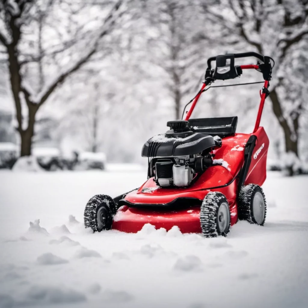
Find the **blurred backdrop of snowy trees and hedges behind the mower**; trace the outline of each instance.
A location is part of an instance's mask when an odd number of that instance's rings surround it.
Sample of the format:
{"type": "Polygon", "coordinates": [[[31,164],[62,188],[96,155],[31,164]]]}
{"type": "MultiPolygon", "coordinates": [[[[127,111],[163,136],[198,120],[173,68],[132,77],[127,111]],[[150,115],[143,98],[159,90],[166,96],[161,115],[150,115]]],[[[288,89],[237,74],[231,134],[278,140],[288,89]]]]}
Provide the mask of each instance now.
{"type": "MultiPolygon", "coordinates": [[[[256,51],[275,60],[269,168],[308,172],[307,16],[307,0],[0,0],[0,166],[146,164],[142,145],[181,118],[207,58],[256,51]]],[[[251,132],[261,87],[210,89],[193,117],[237,115],[251,132]]]]}

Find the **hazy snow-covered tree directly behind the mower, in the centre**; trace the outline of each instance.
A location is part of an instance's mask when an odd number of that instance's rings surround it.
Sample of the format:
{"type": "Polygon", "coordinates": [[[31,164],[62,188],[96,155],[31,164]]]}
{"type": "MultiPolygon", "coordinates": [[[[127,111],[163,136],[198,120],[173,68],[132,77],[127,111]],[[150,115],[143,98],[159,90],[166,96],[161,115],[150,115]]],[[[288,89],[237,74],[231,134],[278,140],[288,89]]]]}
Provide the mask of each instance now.
{"type": "Polygon", "coordinates": [[[215,36],[223,35],[223,27],[214,26],[213,17],[202,13],[200,1],[148,0],[142,12],[148,21],[148,57],[164,70],[175,117],[180,119],[184,99],[197,91],[201,83],[196,85],[197,80],[203,77],[200,70],[205,72],[206,47],[211,45],[211,56],[215,36]]]}

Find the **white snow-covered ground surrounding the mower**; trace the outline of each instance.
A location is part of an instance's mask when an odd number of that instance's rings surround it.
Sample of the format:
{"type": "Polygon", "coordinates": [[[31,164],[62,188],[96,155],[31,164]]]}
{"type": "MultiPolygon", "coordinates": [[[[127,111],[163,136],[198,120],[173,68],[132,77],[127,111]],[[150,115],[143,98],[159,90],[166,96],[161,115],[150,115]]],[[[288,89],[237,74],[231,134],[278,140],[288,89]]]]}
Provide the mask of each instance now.
{"type": "Polygon", "coordinates": [[[269,173],[264,227],[240,221],[227,238],[83,228],[92,195],[145,177],[1,171],[0,307],[308,306],[308,176],[269,173]]]}

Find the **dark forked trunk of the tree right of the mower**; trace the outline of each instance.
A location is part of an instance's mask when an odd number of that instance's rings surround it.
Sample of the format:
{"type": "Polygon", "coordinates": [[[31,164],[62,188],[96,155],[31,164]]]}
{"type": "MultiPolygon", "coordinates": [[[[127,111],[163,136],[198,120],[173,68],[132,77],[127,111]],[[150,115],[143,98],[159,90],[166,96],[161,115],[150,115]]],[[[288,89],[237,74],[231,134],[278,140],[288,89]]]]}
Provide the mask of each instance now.
{"type": "MultiPolygon", "coordinates": [[[[279,101],[279,97],[278,97],[276,89],[270,92],[270,99],[272,101],[272,107],[273,107],[274,114],[276,118],[278,119],[278,122],[284,132],[286,152],[287,153],[293,152],[298,157],[298,131],[297,131],[298,125],[295,125],[298,123],[298,118],[294,120],[294,130],[295,131],[293,132],[286,118],[283,116],[281,103],[279,101]]],[[[292,166],[287,167],[287,172],[290,176],[294,174],[292,166]]]]}

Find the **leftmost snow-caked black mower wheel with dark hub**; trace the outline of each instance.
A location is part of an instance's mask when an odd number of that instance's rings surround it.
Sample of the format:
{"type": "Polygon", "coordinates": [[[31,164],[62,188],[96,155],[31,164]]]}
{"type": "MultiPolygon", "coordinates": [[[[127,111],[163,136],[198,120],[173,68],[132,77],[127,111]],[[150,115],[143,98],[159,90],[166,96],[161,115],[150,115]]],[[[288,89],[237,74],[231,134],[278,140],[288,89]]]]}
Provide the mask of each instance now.
{"type": "Polygon", "coordinates": [[[107,195],[95,195],[84,209],[84,226],[95,231],[111,229],[115,202],[107,195]]]}

